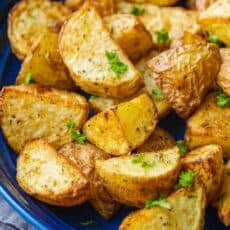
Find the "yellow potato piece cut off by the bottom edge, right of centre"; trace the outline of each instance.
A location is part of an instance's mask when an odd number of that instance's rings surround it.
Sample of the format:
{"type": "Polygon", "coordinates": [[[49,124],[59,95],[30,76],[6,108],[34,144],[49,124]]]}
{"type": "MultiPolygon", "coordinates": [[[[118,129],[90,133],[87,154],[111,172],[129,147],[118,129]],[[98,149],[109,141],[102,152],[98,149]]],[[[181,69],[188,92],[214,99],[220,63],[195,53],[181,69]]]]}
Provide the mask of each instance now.
{"type": "Polygon", "coordinates": [[[202,188],[182,188],[167,198],[171,210],[156,206],[135,211],[123,220],[119,230],[202,230],[205,200],[202,188]]]}

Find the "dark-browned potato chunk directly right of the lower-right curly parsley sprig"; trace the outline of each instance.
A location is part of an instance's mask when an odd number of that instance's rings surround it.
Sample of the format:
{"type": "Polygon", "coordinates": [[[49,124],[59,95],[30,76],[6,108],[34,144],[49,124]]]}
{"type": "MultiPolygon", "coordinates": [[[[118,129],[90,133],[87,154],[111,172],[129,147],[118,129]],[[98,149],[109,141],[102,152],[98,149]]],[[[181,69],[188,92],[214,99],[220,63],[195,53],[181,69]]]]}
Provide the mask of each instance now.
{"type": "Polygon", "coordinates": [[[204,187],[208,203],[216,199],[224,170],[221,146],[206,145],[194,149],[182,159],[182,169],[197,173],[195,183],[204,187]]]}

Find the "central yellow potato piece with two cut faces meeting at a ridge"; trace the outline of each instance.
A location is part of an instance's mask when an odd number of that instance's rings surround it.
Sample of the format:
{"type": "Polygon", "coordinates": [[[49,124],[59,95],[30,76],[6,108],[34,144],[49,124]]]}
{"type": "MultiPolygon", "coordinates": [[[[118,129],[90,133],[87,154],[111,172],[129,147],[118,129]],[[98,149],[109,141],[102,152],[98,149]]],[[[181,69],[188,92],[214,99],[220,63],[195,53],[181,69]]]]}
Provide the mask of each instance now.
{"type": "Polygon", "coordinates": [[[144,143],[156,124],[155,105],[147,94],[142,94],[96,114],[85,123],[83,132],[91,143],[105,152],[126,155],[144,143]]]}

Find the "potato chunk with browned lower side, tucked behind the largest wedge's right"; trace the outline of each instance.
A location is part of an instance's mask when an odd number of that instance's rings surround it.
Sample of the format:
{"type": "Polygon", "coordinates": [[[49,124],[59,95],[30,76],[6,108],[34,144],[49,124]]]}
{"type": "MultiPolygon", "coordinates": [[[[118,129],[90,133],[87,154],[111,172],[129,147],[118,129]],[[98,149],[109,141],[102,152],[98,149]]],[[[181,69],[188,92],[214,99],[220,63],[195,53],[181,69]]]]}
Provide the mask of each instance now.
{"type": "Polygon", "coordinates": [[[136,16],[113,14],[104,20],[112,37],[132,61],[138,60],[152,48],[152,37],[136,16]]]}

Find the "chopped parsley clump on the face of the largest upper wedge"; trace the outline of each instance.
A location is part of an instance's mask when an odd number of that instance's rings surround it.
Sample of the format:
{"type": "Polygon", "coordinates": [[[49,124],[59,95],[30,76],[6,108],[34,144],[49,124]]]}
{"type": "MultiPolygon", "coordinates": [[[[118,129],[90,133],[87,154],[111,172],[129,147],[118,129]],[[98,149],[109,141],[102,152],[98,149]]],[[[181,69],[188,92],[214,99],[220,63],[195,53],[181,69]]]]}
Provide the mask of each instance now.
{"type": "Polygon", "coordinates": [[[128,70],[128,66],[120,61],[117,54],[113,51],[105,51],[105,56],[108,59],[110,68],[117,78],[120,78],[121,75],[128,70]]]}

